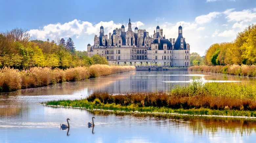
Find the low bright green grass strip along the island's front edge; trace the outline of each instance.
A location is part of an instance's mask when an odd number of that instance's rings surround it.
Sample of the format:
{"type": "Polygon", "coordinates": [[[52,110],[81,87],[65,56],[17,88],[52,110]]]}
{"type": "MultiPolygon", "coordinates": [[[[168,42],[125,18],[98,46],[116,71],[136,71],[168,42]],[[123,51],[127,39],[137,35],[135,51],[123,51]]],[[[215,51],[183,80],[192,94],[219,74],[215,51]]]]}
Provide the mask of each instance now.
{"type": "Polygon", "coordinates": [[[120,104],[104,104],[89,102],[87,99],[81,100],[60,100],[60,101],[49,101],[44,103],[45,105],[59,105],[65,107],[81,107],[89,110],[102,109],[102,110],[112,110],[124,111],[124,112],[146,112],[146,113],[177,113],[177,114],[188,114],[188,115],[216,115],[216,116],[246,116],[246,117],[256,117],[256,111],[243,111],[243,110],[212,110],[207,108],[200,109],[172,109],[168,107],[139,107],[137,104],[130,105],[120,105],[120,104]]]}

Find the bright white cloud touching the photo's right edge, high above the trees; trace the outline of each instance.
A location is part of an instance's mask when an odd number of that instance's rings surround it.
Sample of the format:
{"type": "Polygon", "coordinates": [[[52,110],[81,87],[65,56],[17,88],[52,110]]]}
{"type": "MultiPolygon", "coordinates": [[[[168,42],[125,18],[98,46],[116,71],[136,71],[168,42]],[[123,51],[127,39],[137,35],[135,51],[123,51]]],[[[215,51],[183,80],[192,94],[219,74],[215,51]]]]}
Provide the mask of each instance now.
{"type": "Polygon", "coordinates": [[[228,19],[228,22],[230,21],[244,21],[244,22],[250,22],[253,19],[256,19],[256,12],[252,12],[249,9],[244,9],[243,11],[233,11],[232,9],[227,9],[223,13],[226,14],[226,18],[228,19]]]}

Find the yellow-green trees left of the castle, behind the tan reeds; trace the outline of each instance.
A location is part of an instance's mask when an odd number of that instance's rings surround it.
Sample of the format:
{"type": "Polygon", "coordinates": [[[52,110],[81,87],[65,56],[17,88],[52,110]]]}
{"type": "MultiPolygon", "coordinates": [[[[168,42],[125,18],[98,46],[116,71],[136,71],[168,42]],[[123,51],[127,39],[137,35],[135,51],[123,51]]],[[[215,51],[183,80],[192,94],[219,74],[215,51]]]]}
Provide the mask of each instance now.
{"type": "Polygon", "coordinates": [[[103,56],[87,56],[86,51],[76,51],[71,38],[50,41],[30,40],[27,29],[14,28],[0,32],[0,68],[12,67],[27,69],[29,67],[70,68],[108,64],[103,56]]]}

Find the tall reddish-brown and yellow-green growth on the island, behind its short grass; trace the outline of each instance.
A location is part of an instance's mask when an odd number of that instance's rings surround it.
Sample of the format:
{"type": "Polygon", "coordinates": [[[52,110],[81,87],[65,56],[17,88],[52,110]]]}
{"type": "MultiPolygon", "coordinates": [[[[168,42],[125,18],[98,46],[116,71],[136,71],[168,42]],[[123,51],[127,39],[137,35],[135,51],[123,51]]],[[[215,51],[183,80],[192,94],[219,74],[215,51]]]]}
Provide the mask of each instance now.
{"type": "Polygon", "coordinates": [[[203,83],[194,80],[186,86],[176,86],[168,92],[143,92],[112,95],[94,92],[87,100],[121,105],[169,107],[173,109],[209,108],[256,110],[256,86],[235,83],[203,83]]]}

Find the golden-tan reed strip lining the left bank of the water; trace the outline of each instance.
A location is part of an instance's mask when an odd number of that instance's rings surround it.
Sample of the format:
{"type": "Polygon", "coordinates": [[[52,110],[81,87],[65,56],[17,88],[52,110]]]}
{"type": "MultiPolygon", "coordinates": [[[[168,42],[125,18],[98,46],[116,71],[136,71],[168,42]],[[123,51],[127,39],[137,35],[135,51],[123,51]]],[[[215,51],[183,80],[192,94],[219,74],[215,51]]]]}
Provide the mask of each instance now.
{"type": "Polygon", "coordinates": [[[79,81],[121,72],[134,71],[134,66],[92,65],[66,70],[49,67],[33,67],[28,70],[4,67],[0,69],[0,92],[15,91],[31,87],[42,87],[56,83],[79,81]]]}

